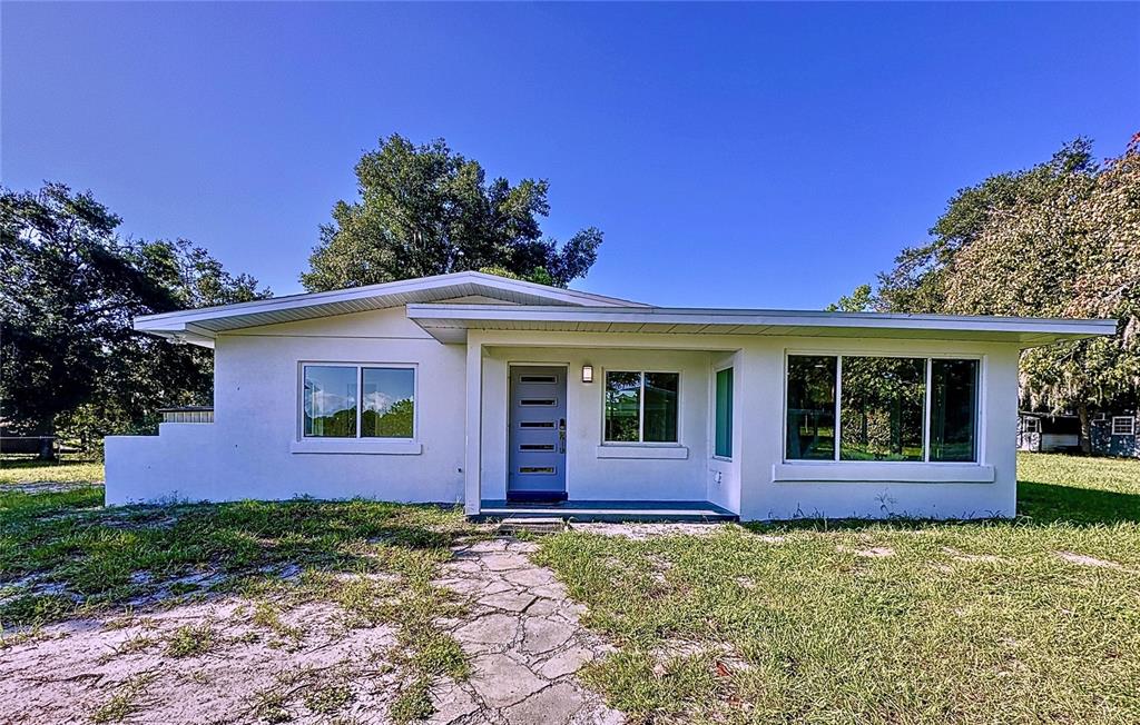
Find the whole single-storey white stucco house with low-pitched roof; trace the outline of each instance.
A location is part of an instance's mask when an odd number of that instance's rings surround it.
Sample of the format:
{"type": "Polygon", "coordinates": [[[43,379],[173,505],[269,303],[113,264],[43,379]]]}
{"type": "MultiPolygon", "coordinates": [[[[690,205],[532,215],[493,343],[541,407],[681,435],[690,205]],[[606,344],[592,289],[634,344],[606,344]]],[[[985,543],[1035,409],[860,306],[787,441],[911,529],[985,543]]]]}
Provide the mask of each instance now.
{"type": "Polygon", "coordinates": [[[461,272],[150,315],[212,422],[106,440],[108,503],[1010,517],[1017,362],[1112,320],[669,308],[461,272]]]}

